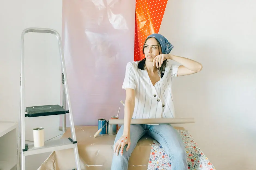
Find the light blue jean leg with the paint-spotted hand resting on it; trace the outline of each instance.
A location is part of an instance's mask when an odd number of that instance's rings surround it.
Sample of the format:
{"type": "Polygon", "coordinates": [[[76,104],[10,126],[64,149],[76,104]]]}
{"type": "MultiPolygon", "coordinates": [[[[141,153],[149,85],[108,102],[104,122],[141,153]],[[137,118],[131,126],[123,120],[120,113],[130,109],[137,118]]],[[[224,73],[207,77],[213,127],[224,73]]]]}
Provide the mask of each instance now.
{"type": "MultiPolygon", "coordinates": [[[[117,142],[117,140],[120,139],[120,137],[123,135],[123,130],[124,130],[124,127],[122,125],[116,134],[113,147],[115,146],[115,143],[117,142]]],[[[132,151],[136,147],[139,139],[144,134],[145,134],[145,130],[142,125],[131,124],[131,126],[130,126],[130,140],[131,140],[130,148],[128,151],[126,151],[127,145],[124,146],[122,156],[121,156],[121,149],[119,150],[118,155],[116,155],[116,153],[114,153],[113,158],[112,158],[112,163],[111,163],[111,170],[127,170],[128,169],[128,161],[132,154],[132,151]]]]}

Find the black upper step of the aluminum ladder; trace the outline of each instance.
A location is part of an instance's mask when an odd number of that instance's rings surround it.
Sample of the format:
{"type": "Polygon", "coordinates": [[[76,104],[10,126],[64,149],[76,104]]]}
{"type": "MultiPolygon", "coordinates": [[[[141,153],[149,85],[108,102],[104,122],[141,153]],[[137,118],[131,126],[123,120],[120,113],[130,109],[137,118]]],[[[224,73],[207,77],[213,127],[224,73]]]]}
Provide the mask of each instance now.
{"type": "Polygon", "coordinates": [[[26,107],[25,117],[38,117],[38,116],[51,116],[69,113],[60,105],[42,105],[42,106],[32,106],[26,107]]]}

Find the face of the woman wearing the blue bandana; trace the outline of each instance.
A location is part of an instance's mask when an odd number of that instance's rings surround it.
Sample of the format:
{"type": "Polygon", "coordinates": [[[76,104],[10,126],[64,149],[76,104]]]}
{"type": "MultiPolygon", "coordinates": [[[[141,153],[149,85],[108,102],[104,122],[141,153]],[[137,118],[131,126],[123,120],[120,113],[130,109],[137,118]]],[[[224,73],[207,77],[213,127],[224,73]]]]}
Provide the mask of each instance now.
{"type": "Polygon", "coordinates": [[[144,45],[144,55],[147,62],[153,62],[153,59],[159,55],[157,40],[152,37],[148,39],[144,45]]]}

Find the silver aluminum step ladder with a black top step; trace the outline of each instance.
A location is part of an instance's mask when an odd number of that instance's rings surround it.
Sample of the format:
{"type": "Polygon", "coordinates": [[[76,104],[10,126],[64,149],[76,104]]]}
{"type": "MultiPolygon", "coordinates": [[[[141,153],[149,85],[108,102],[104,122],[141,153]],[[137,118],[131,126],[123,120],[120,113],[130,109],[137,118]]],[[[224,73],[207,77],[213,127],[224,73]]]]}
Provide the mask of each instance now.
{"type": "Polygon", "coordinates": [[[78,147],[77,147],[77,139],[75,135],[75,127],[72,116],[72,109],[70,104],[69,97],[69,88],[66,78],[66,68],[65,61],[61,43],[61,37],[59,33],[55,30],[48,28],[26,28],[22,32],[21,36],[21,74],[20,74],[20,113],[19,113],[19,132],[18,132],[18,150],[17,150],[17,170],[21,168],[21,170],[26,169],[25,165],[25,157],[28,155],[34,155],[45,152],[52,152],[55,150],[63,150],[63,149],[74,149],[75,155],[75,163],[76,169],[80,170],[80,161],[78,155],[78,147]],[[62,106],[60,105],[42,105],[42,106],[25,106],[24,101],[24,35],[26,33],[50,33],[56,36],[59,41],[59,52],[61,59],[61,69],[62,69],[62,89],[63,89],[63,97],[62,97],[62,106]],[[66,109],[66,100],[68,109],[66,109]],[[39,117],[39,116],[51,116],[51,115],[60,115],[63,116],[63,132],[65,132],[65,116],[69,113],[69,121],[70,121],[70,129],[71,129],[71,137],[63,138],[63,139],[53,139],[44,142],[44,146],[42,147],[34,147],[33,143],[26,144],[25,143],[25,117],[39,117]],[[21,159],[21,161],[20,161],[21,159]]]}

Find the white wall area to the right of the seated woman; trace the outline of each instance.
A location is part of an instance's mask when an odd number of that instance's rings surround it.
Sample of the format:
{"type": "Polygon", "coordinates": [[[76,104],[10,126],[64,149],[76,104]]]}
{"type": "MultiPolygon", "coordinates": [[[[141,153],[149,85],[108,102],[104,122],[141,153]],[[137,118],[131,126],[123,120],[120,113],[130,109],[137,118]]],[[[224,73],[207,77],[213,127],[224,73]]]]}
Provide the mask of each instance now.
{"type": "Polygon", "coordinates": [[[217,170],[252,170],[256,158],[256,2],[169,0],[159,33],[172,54],[202,63],[176,78],[174,100],[182,124],[217,170]]]}

